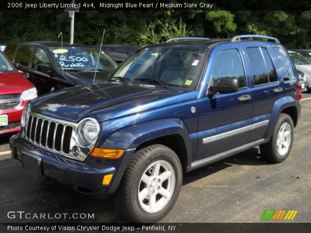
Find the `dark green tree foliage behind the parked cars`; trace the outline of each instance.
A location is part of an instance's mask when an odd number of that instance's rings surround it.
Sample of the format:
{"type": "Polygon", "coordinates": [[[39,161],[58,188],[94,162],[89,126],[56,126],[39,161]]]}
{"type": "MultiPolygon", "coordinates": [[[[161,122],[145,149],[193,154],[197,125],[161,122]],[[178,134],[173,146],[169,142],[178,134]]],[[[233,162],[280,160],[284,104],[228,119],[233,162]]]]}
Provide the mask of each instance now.
{"type": "MultiPolygon", "coordinates": [[[[193,0],[197,1],[197,0],[193,0]]],[[[219,8],[220,9],[220,8],[219,8]]],[[[63,11],[0,11],[0,42],[69,41],[63,11]]],[[[229,38],[237,34],[275,36],[289,48],[311,47],[310,11],[80,11],[75,43],[152,44],[172,37],[229,38]],[[104,26],[102,26],[102,24],[104,26]]]]}

